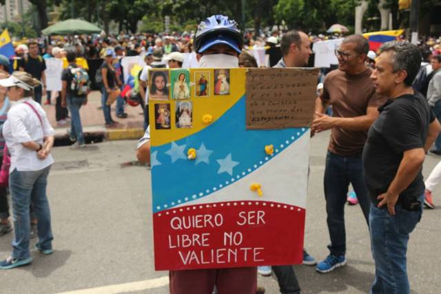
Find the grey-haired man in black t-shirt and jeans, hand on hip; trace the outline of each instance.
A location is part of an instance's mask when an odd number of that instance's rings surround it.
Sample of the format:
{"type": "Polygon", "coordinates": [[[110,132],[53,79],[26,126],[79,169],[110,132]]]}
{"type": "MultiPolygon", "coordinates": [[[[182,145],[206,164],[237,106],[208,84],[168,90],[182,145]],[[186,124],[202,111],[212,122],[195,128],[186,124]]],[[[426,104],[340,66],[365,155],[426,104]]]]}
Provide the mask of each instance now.
{"type": "Polygon", "coordinates": [[[371,293],[407,294],[407,242],[422,216],[425,152],[441,130],[426,99],[414,92],[420,52],[407,41],[384,43],[376,59],[376,92],[389,98],[368,132],[363,165],[372,205],[369,231],[376,277],[371,293]]]}

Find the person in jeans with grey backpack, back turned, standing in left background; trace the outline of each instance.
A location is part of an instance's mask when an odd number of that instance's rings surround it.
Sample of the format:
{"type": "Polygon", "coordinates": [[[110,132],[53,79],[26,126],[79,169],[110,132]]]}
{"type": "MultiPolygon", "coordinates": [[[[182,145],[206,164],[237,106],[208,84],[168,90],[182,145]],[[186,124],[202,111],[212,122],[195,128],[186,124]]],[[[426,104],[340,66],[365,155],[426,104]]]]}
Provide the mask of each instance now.
{"type": "Polygon", "coordinates": [[[76,65],[75,52],[68,52],[68,67],[63,70],[61,74],[61,81],[63,87],[61,88],[61,106],[68,107],[70,111],[70,133],[69,138],[72,142],[76,140],[78,147],[85,147],[85,141],[83,136],[83,126],[81,125],[80,108],[88,102],[87,94],[78,94],[76,87],[72,81],[74,80],[74,69],[78,67],[76,65]]]}

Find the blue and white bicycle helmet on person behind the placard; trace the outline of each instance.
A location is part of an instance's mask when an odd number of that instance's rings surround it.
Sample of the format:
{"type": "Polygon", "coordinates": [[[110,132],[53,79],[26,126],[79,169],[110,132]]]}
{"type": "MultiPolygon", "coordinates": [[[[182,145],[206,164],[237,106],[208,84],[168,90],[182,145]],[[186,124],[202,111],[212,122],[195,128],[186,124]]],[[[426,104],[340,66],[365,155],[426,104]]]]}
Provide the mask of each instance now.
{"type": "Polygon", "coordinates": [[[202,53],[216,44],[225,44],[239,54],[243,47],[243,36],[236,21],[220,14],[212,15],[201,21],[194,36],[196,52],[202,53]]]}

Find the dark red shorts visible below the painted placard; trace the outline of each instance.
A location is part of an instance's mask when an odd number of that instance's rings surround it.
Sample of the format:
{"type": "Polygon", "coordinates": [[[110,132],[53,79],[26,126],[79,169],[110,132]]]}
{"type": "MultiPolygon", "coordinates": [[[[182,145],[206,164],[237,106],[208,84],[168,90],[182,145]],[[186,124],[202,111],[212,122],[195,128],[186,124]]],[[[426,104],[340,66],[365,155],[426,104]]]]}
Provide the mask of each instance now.
{"type": "Polygon", "coordinates": [[[257,268],[170,271],[170,294],[256,294],[257,268]]]}

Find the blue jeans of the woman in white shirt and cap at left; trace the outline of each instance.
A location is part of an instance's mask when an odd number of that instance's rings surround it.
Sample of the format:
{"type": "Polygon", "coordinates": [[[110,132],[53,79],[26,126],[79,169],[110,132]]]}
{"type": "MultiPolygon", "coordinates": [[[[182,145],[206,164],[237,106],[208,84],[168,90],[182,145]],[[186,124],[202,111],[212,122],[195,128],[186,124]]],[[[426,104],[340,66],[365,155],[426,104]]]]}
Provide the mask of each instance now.
{"type": "Polygon", "coordinates": [[[46,196],[50,166],[39,171],[17,171],[9,176],[9,189],[12,199],[14,220],[14,240],[12,240],[12,258],[23,260],[30,257],[29,205],[34,205],[37,216],[37,229],[41,249],[52,249],[52,229],[50,227],[50,209],[46,196]]]}

